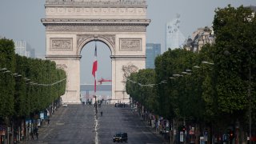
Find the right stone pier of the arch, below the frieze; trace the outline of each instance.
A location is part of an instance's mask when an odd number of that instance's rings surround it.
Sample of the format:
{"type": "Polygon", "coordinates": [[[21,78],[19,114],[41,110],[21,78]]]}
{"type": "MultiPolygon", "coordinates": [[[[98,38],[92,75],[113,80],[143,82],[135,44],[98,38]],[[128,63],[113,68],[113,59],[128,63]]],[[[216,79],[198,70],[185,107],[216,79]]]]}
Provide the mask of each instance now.
{"type": "Polygon", "coordinates": [[[116,53],[114,54],[114,99],[116,102],[130,102],[126,94],[126,78],[124,78],[123,67],[131,68],[130,71],[145,69],[146,66],[146,32],[134,31],[117,35],[116,53]]]}

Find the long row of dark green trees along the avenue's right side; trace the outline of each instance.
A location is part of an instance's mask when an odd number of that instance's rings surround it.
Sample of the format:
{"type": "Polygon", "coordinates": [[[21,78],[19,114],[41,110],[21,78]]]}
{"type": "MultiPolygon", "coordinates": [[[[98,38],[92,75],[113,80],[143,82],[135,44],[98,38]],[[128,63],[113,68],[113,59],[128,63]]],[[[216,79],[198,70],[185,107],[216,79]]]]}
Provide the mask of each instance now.
{"type": "Polygon", "coordinates": [[[256,18],[243,6],[215,13],[214,44],[166,51],[154,70],[130,74],[126,91],[154,114],[222,130],[235,122],[248,130],[251,114],[255,131],[256,18]]]}

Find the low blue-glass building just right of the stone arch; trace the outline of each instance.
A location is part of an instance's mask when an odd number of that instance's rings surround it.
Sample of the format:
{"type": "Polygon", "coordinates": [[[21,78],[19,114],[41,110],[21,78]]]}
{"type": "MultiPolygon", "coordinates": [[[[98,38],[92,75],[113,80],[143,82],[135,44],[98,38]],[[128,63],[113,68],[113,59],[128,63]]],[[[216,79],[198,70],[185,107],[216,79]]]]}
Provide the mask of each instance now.
{"type": "Polygon", "coordinates": [[[146,69],[154,69],[154,59],[161,54],[161,44],[146,43],[146,69]]]}

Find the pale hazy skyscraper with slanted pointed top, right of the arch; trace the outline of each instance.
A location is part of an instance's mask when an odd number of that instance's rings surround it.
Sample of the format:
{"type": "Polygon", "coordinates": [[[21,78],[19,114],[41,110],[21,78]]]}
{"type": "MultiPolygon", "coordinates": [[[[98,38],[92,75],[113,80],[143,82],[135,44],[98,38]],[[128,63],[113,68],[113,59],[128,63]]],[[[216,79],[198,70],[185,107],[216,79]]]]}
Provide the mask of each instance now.
{"type": "Polygon", "coordinates": [[[166,50],[181,48],[186,38],[180,29],[180,14],[173,21],[166,23],[166,50]]]}

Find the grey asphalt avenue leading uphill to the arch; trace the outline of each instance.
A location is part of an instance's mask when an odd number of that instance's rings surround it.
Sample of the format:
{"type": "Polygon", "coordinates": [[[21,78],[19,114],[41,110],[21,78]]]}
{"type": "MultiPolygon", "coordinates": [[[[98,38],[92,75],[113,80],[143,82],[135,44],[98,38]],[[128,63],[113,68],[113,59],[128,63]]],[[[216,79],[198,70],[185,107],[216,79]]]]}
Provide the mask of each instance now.
{"type": "Polygon", "coordinates": [[[163,143],[129,107],[114,105],[103,105],[98,108],[98,114],[94,106],[61,107],[50,118],[50,124],[39,129],[38,140],[26,143],[107,144],[114,143],[112,138],[116,132],[126,132],[128,143],[132,144],[163,143]]]}

